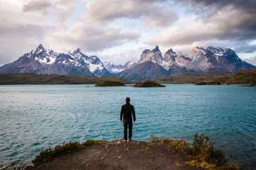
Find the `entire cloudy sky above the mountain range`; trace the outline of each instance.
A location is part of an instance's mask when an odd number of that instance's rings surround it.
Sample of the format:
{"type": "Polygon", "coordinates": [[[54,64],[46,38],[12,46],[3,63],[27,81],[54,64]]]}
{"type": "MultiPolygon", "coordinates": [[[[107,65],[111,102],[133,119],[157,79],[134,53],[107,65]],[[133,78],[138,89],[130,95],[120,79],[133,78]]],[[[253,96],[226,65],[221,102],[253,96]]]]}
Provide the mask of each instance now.
{"type": "Polygon", "coordinates": [[[255,16],[255,0],[0,0],[0,66],[40,43],[115,64],[212,45],[256,64],[255,16]]]}

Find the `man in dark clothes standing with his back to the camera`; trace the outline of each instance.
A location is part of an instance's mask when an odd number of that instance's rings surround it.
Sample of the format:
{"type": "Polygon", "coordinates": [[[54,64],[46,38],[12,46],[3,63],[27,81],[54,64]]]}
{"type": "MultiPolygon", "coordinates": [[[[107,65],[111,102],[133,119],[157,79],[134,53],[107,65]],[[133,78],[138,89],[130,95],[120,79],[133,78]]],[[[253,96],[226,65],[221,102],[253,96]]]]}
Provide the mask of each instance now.
{"type": "Polygon", "coordinates": [[[132,140],[132,117],[133,117],[134,123],[135,123],[136,117],[135,117],[134,106],[132,106],[129,103],[130,98],[127,97],[125,101],[126,101],[126,104],[124,104],[121,108],[120,120],[121,122],[124,123],[124,142],[127,142],[127,126],[129,126],[129,136],[128,136],[128,142],[129,142],[132,140]]]}

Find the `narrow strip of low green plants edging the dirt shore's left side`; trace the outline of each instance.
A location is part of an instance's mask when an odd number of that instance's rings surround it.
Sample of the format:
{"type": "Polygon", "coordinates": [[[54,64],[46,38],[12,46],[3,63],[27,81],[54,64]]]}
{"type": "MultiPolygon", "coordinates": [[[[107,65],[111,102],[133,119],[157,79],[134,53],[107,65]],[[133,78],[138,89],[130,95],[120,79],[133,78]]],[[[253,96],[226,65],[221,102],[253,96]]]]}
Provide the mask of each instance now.
{"type": "Polygon", "coordinates": [[[38,166],[40,164],[44,164],[46,162],[53,160],[54,157],[58,157],[60,155],[76,152],[82,148],[85,148],[88,145],[92,145],[95,143],[102,143],[102,141],[87,140],[87,141],[83,142],[82,144],[80,144],[80,142],[69,142],[69,143],[63,142],[62,145],[57,145],[54,147],[54,149],[49,147],[48,149],[45,149],[42,152],[40,152],[40,154],[38,154],[36,156],[36,159],[34,159],[32,161],[32,163],[35,166],[38,166]]]}

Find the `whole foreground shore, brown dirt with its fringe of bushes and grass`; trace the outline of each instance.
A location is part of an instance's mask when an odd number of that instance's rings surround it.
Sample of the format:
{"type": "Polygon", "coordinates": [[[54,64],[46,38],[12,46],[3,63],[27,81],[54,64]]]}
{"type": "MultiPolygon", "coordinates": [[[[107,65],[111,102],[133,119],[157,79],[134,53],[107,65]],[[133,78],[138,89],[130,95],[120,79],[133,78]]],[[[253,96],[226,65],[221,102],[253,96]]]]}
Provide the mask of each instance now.
{"type": "Polygon", "coordinates": [[[33,166],[17,162],[0,166],[0,169],[240,169],[228,164],[223,152],[213,147],[208,136],[198,133],[192,143],[160,140],[153,135],[150,142],[87,140],[82,144],[63,143],[54,149],[43,150],[32,162],[33,166]],[[207,152],[202,152],[203,149],[207,152]]]}

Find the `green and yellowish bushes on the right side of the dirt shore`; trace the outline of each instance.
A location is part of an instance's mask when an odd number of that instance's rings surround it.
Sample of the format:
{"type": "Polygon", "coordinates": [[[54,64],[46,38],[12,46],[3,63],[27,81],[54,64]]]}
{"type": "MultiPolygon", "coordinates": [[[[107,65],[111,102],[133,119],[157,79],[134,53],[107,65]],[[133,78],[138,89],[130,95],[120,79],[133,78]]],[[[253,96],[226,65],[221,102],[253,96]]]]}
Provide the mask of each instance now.
{"type": "MultiPolygon", "coordinates": [[[[197,166],[203,169],[227,169],[238,170],[238,166],[228,164],[225,154],[221,149],[214,147],[214,142],[206,135],[193,135],[193,142],[188,143],[186,140],[169,140],[169,147],[181,149],[188,153],[191,161],[186,162],[189,166],[197,166]]],[[[166,139],[164,139],[166,140],[166,139]]],[[[161,142],[158,137],[151,135],[151,142],[161,142]]]]}

